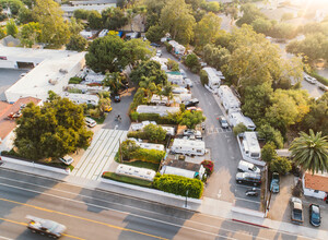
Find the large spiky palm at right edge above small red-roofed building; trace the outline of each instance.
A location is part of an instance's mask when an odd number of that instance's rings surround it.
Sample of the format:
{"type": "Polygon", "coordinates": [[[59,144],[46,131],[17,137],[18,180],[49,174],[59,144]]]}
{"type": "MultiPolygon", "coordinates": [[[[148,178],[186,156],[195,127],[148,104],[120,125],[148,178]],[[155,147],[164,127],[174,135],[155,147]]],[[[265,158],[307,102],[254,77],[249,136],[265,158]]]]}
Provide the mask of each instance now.
{"type": "Polygon", "coordinates": [[[328,171],[328,141],[327,136],[321,136],[321,132],[315,134],[312,129],[309,134],[301,132],[292,142],[290,151],[294,163],[304,171],[328,171]]]}

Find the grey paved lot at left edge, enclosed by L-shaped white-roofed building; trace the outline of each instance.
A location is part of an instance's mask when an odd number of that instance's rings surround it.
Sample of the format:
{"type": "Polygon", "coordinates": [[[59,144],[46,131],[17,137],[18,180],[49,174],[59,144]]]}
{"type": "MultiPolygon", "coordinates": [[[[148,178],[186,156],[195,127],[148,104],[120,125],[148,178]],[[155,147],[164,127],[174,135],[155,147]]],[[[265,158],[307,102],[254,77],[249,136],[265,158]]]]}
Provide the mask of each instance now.
{"type": "Polygon", "coordinates": [[[0,69],[0,100],[7,100],[4,92],[11,87],[26,70],[0,69]]]}

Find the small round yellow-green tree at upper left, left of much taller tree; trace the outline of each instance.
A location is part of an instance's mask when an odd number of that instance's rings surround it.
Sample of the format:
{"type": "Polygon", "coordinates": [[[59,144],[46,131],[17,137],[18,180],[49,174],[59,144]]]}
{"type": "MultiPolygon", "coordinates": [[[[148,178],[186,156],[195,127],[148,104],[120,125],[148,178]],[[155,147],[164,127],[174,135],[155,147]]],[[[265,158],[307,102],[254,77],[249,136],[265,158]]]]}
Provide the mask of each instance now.
{"type": "Polygon", "coordinates": [[[24,47],[31,48],[39,41],[42,31],[38,23],[30,22],[21,27],[19,38],[24,47]]]}

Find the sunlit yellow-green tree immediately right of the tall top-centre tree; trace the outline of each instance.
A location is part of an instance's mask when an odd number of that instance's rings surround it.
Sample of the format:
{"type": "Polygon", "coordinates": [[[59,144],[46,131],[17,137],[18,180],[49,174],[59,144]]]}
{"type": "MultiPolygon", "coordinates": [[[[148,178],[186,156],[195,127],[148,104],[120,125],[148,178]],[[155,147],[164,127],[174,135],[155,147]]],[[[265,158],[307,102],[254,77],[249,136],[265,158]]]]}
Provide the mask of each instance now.
{"type": "Polygon", "coordinates": [[[195,26],[195,44],[200,49],[207,44],[212,44],[216,38],[221,19],[214,13],[210,12],[206,14],[202,20],[195,26]]]}

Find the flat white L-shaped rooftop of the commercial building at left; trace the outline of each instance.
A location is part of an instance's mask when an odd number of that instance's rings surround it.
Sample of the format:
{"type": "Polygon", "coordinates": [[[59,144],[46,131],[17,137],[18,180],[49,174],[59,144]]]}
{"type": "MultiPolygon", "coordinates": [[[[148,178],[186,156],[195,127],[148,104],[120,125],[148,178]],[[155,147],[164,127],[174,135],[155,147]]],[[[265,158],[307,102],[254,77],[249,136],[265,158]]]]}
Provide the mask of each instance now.
{"type": "Polygon", "coordinates": [[[62,87],[68,84],[71,76],[84,64],[85,52],[14,48],[0,46],[1,56],[16,61],[38,63],[25,76],[5,91],[9,103],[16,101],[21,97],[37,97],[46,100],[48,92],[57,94],[62,92],[62,87]]]}

